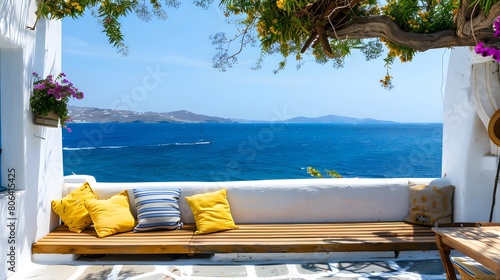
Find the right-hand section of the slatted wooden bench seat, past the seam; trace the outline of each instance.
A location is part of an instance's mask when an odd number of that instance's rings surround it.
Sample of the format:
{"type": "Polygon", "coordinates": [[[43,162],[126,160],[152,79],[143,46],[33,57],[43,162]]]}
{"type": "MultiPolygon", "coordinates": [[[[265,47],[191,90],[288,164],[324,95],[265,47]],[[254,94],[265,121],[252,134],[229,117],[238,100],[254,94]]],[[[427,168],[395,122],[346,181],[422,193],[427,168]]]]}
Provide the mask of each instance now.
{"type": "Polygon", "coordinates": [[[230,231],[193,235],[193,253],[287,253],[435,250],[431,228],[404,222],[242,224],[230,231]]]}

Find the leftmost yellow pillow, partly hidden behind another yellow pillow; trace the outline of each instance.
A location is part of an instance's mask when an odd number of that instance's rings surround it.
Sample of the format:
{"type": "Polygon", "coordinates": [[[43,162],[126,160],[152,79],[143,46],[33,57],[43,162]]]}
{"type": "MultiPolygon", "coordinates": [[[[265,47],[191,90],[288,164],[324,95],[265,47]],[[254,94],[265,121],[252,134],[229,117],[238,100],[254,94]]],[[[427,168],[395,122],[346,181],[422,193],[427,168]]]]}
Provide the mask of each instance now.
{"type": "Polygon", "coordinates": [[[61,200],[52,200],[52,210],[59,215],[61,221],[72,232],[80,233],[90,224],[90,218],[85,201],[95,199],[95,194],[89,183],[85,182],[61,200]]]}

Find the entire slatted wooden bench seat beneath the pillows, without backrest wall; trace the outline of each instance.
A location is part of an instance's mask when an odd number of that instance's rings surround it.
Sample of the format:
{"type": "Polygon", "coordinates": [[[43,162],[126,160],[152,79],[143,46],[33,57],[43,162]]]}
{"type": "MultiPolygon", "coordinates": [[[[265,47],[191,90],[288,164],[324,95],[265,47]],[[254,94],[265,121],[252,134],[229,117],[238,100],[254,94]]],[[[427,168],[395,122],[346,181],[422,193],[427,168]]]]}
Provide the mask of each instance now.
{"type": "Polygon", "coordinates": [[[405,222],[241,224],[230,231],[194,235],[181,230],[121,233],[99,238],[93,228],[61,226],[33,244],[34,254],[212,254],[436,250],[430,227],[405,222]]]}

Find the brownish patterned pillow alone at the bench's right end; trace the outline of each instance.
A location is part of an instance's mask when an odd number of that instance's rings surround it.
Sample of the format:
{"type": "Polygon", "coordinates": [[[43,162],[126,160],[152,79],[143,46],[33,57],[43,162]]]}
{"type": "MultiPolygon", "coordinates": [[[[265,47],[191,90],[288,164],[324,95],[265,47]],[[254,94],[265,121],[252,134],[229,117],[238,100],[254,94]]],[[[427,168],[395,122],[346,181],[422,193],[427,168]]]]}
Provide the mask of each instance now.
{"type": "Polygon", "coordinates": [[[455,187],[410,184],[410,213],[405,221],[433,226],[451,223],[455,187]]]}

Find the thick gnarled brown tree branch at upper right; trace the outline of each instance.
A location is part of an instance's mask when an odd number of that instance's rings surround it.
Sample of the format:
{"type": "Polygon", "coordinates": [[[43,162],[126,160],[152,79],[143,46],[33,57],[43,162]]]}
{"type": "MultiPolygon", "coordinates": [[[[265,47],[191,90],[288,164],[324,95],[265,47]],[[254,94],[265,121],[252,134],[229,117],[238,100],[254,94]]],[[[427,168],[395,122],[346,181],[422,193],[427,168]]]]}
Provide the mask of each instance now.
{"type": "Polygon", "coordinates": [[[475,46],[477,44],[476,39],[483,41],[484,39],[489,38],[491,40],[493,38],[491,26],[475,30],[475,38],[472,35],[459,37],[454,30],[443,30],[428,34],[406,32],[386,16],[358,17],[345,26],[336,29],[335,33],[329,30],[327,34],[333,39],[384,38],[417,51],[452,46],[475,46]]]}

